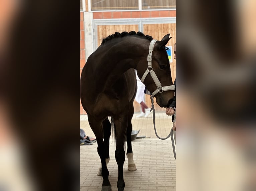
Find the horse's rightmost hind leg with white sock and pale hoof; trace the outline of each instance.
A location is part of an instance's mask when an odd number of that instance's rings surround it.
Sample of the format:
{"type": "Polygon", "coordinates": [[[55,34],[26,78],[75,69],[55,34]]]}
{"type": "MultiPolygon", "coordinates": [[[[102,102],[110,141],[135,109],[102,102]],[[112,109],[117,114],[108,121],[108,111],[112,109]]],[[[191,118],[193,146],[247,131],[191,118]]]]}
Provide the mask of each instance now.
{"type": "Polygon", "coordinates": [[[128,126],[127,126],[127,132],[126,132],[126,140],[127,140],[126,156],[128,158],[128,170],[130,170],[130,171],[137,170],[135,162],[133,160],[132,141],[131,141],[133,113],[134,113],[134,108],[133,108],[133,103],[132,103],[132,104],[130,104],[130,109],[129,109],[129,114],[128,114],[128,126]]]}

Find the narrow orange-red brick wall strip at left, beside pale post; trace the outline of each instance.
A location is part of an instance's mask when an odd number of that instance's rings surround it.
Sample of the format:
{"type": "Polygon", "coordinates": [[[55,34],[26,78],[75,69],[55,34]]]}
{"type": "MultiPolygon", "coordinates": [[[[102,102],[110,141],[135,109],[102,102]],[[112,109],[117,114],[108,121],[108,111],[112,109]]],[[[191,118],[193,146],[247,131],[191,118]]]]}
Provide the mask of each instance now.
{"type": "MultiPolygon", "coordinates": [[[[84,13],[80,12],[80,76],[82,68],[85,65],[85,27],[84,27],[84,13]]],[[[80,101],[80,115],[86,114],[80,101]]]]}

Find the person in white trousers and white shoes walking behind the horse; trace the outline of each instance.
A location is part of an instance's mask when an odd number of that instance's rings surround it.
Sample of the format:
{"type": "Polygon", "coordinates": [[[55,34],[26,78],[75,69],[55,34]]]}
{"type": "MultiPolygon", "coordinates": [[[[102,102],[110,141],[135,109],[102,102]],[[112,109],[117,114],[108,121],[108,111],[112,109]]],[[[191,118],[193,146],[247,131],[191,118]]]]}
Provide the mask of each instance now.
{"type": "Polygon", "coordinates": [[[145,103],[145,95],[144,95],[144,90],[145,90],[145,85],[140,81],[137,71],[136,71],[136,79],[137,79],[137,93],[135,97],[135,101],[137,101],[140,104],[141,107],[141,114],[137,116],[139,117],[147,117],[148,115],[151,114],[150,108],[145,103]]]}

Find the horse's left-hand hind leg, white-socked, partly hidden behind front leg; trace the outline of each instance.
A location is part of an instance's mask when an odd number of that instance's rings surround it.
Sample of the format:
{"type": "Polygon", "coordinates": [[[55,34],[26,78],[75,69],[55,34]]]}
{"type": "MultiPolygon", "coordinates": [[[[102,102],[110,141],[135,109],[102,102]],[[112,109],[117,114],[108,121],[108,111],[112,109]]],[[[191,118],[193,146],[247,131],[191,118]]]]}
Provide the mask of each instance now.
{"type": "MultiPolygon", "coordinates": [[[[103,133],[104,133],[104,144],[105,144],[105,151],[106,151],[106,165],[108,166],[109,163],[109,137],[111,135],[111,123],[109,122],[108,118],[102,122],[103,125],[103,133]]],[[[101,176],[102,166],[100,166],[97,175],[101,176]]]]}

